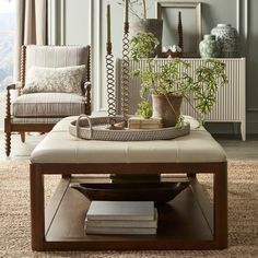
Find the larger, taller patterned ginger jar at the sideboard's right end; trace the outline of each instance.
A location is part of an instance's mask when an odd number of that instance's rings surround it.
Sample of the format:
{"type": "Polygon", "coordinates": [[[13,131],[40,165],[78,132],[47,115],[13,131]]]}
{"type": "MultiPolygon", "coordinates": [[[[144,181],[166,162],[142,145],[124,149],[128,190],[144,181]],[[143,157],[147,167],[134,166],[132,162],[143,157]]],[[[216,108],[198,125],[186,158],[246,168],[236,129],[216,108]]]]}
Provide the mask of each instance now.
{"type": "Polygon", "coordinates": [[[221,44],[221,57],[237,57],[237,31],[231,24],[218,24],[211,30],[211,34],[215,35],[216,40],[221,44]]]}

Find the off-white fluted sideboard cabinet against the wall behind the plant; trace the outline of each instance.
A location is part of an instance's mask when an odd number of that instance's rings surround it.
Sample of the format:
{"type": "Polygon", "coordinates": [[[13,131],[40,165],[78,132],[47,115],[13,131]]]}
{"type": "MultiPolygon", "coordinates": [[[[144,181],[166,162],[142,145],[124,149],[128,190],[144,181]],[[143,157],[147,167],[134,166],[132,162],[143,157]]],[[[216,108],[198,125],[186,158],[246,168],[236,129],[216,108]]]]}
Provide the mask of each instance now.
{"type": "MultiPolygon", "coordinates": [[[[201,58],[184,58],[191,63],[190,73],[204,62],[201,58]]],[[[243,141],[246,140],[246,61],[245,58],[220,59],[226,64],[226,75],[228,83],[221,87],[216,94],[216,104],[212,112],[206,117],[209,122],[236,122],[241,124],[241,133],[243,141]]],[[[157,68],[168,62],[169,59],[157,59],[157,68]]],[[[130,71],[144,69],[146,60],[140,62],[130,61],[130,71]]],[[[117,99],[120,99],[121,89],[121,60],[116,63],[117,99]]],[[[140,102],[139,86],[140,79],[130,79],[129,82],[129,114],[134,114],[137,104],[140,102]]],[[[120,108],[118,102],[118,109],[120,108]]],[[[188,103],[183,104],[183,114],[194,116],[195,112],[188,103]]]]}

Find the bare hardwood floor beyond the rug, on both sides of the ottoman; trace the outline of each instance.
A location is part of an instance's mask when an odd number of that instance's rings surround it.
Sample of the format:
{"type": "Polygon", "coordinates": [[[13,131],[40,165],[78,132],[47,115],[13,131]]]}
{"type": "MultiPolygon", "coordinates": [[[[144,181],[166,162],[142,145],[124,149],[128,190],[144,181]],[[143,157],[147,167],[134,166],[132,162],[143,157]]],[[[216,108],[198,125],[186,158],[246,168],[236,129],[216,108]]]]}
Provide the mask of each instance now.
{"type": "MultiPolygon", "coordinates": [[[[10,157],[4,153],[4,133],[0,132],[0,161],[5,160],[26,160],[36,144],[44,139],[46,134],[26,133],[26,141],[22,143],[20,134],[12,136],[12,146],[10,157]]],[[[238,137],[213,136],[224,148],[228,160],[258,160],[258,134],[247,136],[243,142],[238,137]]]]}

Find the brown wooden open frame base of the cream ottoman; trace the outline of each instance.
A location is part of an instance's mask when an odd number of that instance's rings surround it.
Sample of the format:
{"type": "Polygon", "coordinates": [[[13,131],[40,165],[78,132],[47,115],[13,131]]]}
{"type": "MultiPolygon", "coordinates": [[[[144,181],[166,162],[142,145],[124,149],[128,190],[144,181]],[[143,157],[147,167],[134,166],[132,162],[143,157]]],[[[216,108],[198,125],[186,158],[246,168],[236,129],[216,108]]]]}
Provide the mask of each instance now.
{"type": "MultiPolygon", "coordinates": [[[[187,194],[188,195],[188,194],[187,194]]],[[[181,194],[179,195],[181,196],[181,194]]],[[[178,196],[178,197],[179,197],[178,196]]],[[[85,198],[86,199],[86,198],[85,198]]],[[[33,250],[126,250],[126,249],[222,249],[227,247],[227,163],[137,163],[137,164],[31,164],[31,218],[33,250]],[[48,239],[58,209],[77,174],[187,174],[190,189],[212,232],[210,239],[155,236],[85,236],[48,239]],[[44,175],[62,175],[45,215],[44,175]],[[206,198],[196,174],[213,174],[213,204],[206,198]]]]}

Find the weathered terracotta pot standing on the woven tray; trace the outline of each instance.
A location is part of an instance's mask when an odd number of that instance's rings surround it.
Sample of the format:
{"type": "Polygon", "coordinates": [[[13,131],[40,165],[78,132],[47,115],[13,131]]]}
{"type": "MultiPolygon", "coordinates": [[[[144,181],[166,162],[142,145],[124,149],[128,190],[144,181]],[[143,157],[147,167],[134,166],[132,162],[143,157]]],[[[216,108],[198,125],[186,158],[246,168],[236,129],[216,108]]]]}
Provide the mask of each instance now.
{"type": "Polygon", "coordinates": [[[162,118],[163,127],[174,127],[180,116],[183,96],[152,95],[152,117],[162,118]]]}

